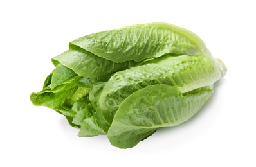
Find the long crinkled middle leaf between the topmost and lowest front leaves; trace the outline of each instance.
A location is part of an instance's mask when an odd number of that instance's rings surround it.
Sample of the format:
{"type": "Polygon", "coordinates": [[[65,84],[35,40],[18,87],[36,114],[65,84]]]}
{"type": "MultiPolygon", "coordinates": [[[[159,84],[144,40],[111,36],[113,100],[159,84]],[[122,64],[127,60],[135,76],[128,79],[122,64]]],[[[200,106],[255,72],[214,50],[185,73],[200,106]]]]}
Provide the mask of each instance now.
{"type": "Polygon", "coordinates": [[[143,66],[115,73],[105,84],[99,107],[105,120],[111,125],[123,100],[147,85],[173,85],[184,93],[214,84],[220,78],[221,73],[210,58],[167,55],[143,66]]]}

